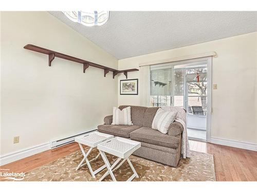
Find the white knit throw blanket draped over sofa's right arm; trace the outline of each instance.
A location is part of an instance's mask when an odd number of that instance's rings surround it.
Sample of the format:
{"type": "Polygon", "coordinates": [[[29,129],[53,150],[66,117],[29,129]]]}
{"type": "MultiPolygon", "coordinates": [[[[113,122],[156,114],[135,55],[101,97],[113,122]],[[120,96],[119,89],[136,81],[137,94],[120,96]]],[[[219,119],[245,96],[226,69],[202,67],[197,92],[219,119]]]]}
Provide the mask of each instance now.
{"type": "Polygon", "coordinates": [[[166,111],[177,112],[177,117],[175,121],[180,122],[183,125],[181,154],[183,155],[184,159],[186,159],[187,157],[191,157],[191,151],[189,148],[189,141],[188,141],[188,132],[187,132],[187,114],[185,110],[182,108],[179,108],[178,106],[163,106],[162,109],[166,111]]]}

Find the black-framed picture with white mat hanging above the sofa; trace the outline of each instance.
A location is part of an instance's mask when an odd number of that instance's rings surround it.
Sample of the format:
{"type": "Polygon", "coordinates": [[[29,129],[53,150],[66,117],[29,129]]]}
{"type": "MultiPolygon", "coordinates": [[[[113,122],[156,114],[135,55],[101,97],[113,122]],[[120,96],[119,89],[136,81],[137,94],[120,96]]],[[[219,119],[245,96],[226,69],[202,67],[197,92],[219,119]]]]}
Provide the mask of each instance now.
{"type": "Polygon", "coordinates": [[[120,80],[120,95],[138,95],[138,79],[120,80]]]}

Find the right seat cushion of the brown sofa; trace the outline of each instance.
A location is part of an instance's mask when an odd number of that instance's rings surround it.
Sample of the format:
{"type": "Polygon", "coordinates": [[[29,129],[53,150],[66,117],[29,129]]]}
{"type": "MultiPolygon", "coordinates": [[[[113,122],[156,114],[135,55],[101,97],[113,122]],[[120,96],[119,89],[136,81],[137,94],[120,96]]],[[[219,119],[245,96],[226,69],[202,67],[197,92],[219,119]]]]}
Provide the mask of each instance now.
{"type": "Polygon", "coordinates": [[[159,146],[166,146],[170,148],[177,148],[180,139],[178,137],[169,136],[153,130],[149,127],[141,127],[130,133],[130,138],[136,141],[155,144],[159,146]]]}

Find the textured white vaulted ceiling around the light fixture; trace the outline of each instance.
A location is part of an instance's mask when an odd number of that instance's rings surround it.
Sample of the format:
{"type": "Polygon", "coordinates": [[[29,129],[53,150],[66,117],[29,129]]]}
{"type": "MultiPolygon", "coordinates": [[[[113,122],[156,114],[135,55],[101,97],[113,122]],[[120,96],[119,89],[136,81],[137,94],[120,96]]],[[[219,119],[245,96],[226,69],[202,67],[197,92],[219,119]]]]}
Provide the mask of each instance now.
{"type": "Polygon", "coordinates": [[[257,31],[257,12],[111,11],[94,27],[49,13],[118,59],[257,31]]]}

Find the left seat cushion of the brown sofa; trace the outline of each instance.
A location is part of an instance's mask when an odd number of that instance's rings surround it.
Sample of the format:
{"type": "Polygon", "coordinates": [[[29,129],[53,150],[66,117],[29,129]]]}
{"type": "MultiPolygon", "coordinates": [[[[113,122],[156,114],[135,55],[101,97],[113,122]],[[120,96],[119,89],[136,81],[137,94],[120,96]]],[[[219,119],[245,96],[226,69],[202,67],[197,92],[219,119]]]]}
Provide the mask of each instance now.
{"type": "Polygon", "coordinates": [[[140,126],[138,125],[98,125],[97,131],[110,134],[110,135],[115,135],[118,137],[125,137],[125,138],[130,138],[130,133],[139,129],[140,126]]]}

